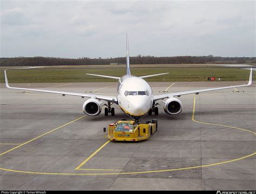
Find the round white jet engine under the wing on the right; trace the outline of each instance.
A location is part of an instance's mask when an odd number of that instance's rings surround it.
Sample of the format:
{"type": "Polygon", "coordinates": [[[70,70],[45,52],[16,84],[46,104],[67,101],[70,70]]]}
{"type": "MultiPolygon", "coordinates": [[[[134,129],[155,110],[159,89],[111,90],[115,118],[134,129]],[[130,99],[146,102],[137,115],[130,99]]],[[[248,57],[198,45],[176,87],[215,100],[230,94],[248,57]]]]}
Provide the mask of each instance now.
{"type": "Polygon", "coordinates": [[[168,98],[164,103],[164,111],[167,114],[178,114],[182,111],[182,103],[177,98],[168,98]]]}

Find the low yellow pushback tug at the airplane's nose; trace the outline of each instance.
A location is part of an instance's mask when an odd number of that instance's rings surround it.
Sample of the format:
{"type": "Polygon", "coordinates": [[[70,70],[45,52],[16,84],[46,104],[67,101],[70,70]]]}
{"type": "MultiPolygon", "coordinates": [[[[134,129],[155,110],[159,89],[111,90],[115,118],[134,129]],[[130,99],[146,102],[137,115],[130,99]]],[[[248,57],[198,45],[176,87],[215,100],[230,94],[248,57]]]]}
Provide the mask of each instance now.
{"type": "MultiPolygon", "coordinates": [[[[106,132],[106,127],[103,129],[106,132]]],[[[138,123],[134,120],[119,120],[107,127],[107,138],[111,141],[141,141],[149,139],[157,131],[157,120],[138,123]]]]}

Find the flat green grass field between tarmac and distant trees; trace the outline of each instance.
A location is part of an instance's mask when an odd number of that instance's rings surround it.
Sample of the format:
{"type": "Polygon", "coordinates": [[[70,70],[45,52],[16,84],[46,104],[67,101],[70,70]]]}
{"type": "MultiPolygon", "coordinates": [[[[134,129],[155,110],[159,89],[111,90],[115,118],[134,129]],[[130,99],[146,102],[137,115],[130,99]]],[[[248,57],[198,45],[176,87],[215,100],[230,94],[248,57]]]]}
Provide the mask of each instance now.
{"type": "MultiPolygon", "coordinates": [[[[221,81],[247,81],[249,71],[235,68],[133,68],[132,74],[136,76],[160,74],[167,75],[146,78],[148,82],[198,82],[207,81],[207,77],[218,77],[221,81]]],[[[69,83],[69,82],[116,82],[109,78],[101,78],[89,74],[102,74],[122,76],[125,68],[103,69],[18,69],[8,70],[9,83],[69,83]]],[[[255,80],[255,78],[253,79],[255,80]]],[[[4,71],[0,70],[0,82],[4,83],[4,71]]]]}

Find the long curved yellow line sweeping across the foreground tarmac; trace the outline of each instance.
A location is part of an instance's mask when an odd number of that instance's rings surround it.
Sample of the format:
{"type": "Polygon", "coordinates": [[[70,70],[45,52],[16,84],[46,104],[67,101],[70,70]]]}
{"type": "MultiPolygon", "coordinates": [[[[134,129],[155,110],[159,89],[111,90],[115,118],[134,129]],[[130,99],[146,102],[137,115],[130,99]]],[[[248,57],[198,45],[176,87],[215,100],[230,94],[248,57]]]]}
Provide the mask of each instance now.
{"type": "Polygon", "coordinates": [[[196,167],[187,167],[187,168],[175,168],[175,169],[166,169],[166,170],[152,170],[152,171],[138,171],[138,172],[127,172],[127,173],[42,173],[42,172],[30,172],[30,171],[22,171],[22,170],[12,170],[12,169],[6,169],[6,168],[0,168],[0,170],[5,170],[5,171],[10,171],[14,173],[24,173],[24,174],[37,174],[37,175],[80,175],[80,176],[88,176],[88,175],[131,175],[131,174],[147,174],[147,173],[162,173],[162,172],[168,172],[168,171],[176,171],[176,170],[188,170],[188,169],[195,169],[195,168],[204,168],[204,167],[212,167],[212,166],[217,166],[220,164],[226,164],[230,162],[235,162],[239,161],[242,159],[246,159],[248,157],[251,157],[255,155],[256,153],[252,153],[246,156],[239,157],[237,159],[233,160],[228,160],[224,162],[218,162],[218,163],[213,163],[213,164],[206,164],[206,165],[201,165],[201,166],[196,166],[196,167]]]}

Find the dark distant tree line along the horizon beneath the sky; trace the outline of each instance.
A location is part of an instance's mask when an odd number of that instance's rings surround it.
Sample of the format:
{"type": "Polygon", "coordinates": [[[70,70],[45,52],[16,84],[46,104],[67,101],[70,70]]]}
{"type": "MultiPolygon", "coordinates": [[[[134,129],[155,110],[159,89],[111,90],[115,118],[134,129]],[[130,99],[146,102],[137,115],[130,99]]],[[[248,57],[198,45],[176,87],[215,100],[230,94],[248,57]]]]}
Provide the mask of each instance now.
{"type": "MultiPolygon", "coordinates": [[[[207,63],[256,63],[256,57],[221,57],[221,56],[132,56],[131,64],[207,64],[207,63]]],[[[36,56],[33,58],[0,58],[0,66],[77,66],[120,63],[125,64],[126,58],[48,58],[36,56]]]]}

